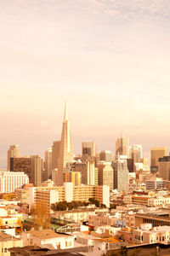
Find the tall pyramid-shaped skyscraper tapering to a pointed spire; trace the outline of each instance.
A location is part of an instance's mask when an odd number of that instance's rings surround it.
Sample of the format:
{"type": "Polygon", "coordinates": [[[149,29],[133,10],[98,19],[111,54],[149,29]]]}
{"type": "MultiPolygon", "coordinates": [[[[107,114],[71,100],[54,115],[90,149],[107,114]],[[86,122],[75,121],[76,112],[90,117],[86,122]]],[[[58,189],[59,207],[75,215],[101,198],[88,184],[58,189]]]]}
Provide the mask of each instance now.
{"type": "Polygon", "coordinates": [[[59,145],[58,173],[56,184],[62,186],[64,183],[63,172],[70,166],[73,160],[73,150],[71,143],[71,129],[67,113],[67,103],[65,103],[65,115],[61,133],[61,141],[59,145]]]}

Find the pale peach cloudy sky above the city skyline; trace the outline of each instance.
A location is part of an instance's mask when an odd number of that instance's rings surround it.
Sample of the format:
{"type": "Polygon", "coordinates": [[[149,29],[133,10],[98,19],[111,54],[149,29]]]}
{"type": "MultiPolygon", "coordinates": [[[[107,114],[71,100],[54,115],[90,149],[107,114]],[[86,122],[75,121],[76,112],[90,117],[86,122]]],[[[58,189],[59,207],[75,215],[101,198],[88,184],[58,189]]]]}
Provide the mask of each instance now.
{"type": "Polygon", "coordinates": [[[9,145],[40,154],[60,139],[68,102],[82,141],[115,152],[170,148],[169,0],[1,0],[0,167],[9,145]]]}

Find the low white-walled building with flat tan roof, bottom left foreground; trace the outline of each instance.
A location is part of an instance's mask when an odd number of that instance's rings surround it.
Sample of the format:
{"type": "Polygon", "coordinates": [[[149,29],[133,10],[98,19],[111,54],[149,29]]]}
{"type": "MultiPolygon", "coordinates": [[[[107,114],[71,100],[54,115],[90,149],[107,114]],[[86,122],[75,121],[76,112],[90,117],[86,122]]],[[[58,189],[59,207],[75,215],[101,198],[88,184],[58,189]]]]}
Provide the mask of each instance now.
{"type": "Polygon", "coordinates": [[[22,233],[24,246],[37,245],[38,247],[48,247],[54,249],[68,249],[74,247],[74,236],[58,234],[54,230],[31,230],[22,233]]]}

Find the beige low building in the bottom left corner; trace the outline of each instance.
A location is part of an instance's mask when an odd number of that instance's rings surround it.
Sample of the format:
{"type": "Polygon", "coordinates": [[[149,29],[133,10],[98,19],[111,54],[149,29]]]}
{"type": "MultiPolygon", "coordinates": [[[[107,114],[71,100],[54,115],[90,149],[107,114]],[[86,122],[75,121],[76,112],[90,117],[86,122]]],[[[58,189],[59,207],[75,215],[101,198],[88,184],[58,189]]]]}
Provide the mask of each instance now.
{"type": "Polygon", "coordinates": [[[0,231],[0,256],[10,256],[11,247],[23,247],[23,240],[0,231]]]}

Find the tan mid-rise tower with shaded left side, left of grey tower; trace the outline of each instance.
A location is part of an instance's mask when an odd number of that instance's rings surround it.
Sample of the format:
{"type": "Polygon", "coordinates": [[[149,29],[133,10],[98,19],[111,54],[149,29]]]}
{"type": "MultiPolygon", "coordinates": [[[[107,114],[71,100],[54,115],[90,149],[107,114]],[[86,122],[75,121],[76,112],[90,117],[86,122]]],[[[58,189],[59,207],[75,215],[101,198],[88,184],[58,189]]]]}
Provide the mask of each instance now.
{"type": "Polygon", "coordinates": [[[111,164],[102,163],[98,167],[99,185],[108,185],[113,189],[113,168],[111,164]]]}

